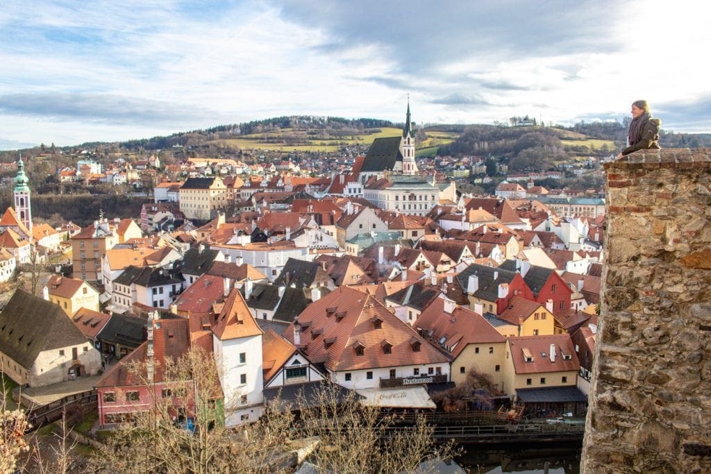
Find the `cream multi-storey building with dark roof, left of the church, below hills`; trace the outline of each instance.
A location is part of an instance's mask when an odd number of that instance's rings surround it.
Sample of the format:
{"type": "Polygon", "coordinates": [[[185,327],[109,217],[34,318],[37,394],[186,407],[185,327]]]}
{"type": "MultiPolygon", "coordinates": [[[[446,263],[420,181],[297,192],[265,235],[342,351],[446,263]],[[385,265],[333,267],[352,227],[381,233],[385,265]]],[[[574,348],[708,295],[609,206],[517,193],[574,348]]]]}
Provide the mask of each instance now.
{"type": "Polygon", "coordinates": [[[180,188],[180,210],[187,219],[210,220],[228,205],[222,178],[188,178],[180,188]]]}

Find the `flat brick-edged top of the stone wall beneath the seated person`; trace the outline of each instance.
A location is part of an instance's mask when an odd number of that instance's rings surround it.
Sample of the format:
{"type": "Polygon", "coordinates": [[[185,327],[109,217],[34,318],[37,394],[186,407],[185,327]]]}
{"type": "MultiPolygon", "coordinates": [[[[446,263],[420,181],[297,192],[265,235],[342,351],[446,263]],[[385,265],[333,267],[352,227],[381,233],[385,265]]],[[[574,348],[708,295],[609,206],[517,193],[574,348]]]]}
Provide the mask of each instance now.
{"type": "Polygon", "coordinates": [[[640,150],[605,163],[606,170],[658,169],[658,168],[705,168],[711,165],[711,149],[672,148],[662,150],[640,150]]]}

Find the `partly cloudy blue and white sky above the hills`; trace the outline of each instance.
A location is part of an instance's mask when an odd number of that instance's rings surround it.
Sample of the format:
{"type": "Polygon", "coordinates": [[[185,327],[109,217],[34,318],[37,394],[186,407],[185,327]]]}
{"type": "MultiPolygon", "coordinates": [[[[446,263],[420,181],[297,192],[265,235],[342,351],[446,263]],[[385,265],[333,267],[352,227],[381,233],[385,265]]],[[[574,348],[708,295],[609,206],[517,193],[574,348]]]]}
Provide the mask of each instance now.
{"type": "Polygon", "coordinates": [[[0,149],[292,114],[711,132],[700,1],[5,0],[0,149]]]}

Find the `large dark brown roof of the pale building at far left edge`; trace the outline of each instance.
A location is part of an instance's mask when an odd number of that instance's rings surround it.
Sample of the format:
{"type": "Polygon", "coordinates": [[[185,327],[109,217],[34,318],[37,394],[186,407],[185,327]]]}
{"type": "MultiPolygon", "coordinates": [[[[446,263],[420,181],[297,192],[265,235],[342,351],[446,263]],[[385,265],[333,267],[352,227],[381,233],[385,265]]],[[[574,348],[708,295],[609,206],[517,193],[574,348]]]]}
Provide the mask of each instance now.
{"type": "Polygon", "coordinates": [[[43,350],[86,342],[62,308],[25,291],[15,291],[0,313],[0,350],[26,369],[43,350]]]}

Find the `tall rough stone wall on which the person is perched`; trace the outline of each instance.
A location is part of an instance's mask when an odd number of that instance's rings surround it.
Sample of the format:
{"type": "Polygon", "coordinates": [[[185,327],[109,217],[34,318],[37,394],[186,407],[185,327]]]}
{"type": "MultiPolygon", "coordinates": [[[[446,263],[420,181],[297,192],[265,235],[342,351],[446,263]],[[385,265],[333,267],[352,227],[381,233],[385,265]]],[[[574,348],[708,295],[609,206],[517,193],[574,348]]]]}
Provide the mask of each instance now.
{"type": "Polygon", "coordinates": [[[607,163],[584,473],[711,472],[711,150],[607,163]]]}

